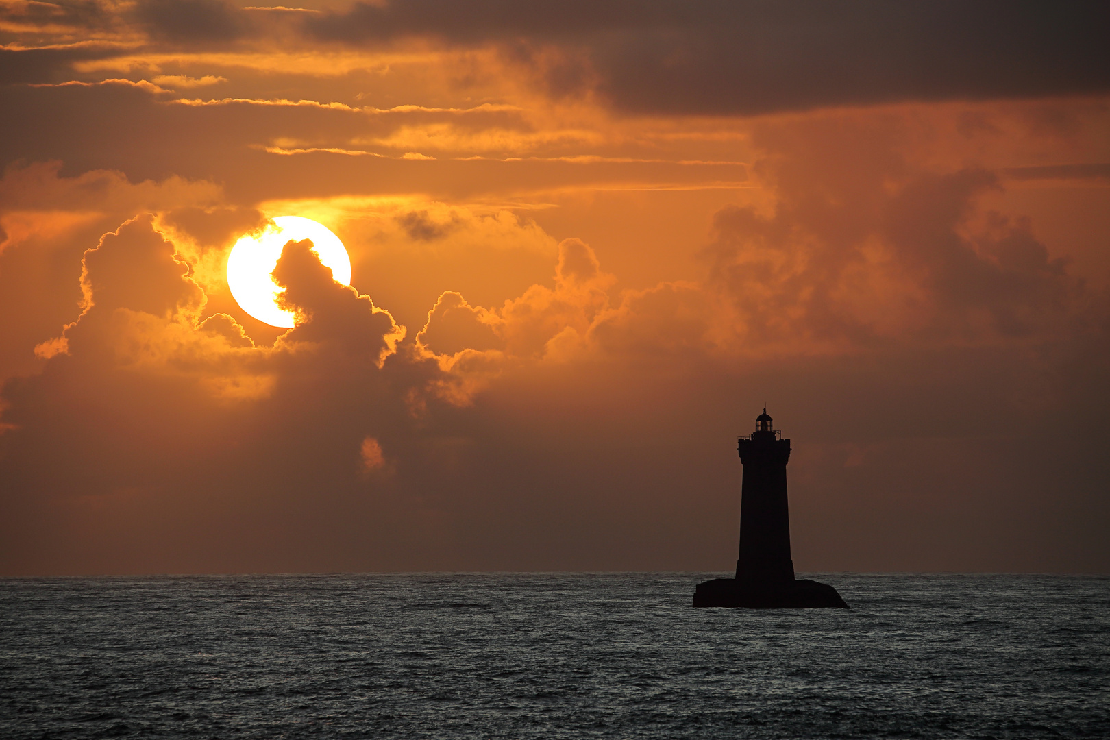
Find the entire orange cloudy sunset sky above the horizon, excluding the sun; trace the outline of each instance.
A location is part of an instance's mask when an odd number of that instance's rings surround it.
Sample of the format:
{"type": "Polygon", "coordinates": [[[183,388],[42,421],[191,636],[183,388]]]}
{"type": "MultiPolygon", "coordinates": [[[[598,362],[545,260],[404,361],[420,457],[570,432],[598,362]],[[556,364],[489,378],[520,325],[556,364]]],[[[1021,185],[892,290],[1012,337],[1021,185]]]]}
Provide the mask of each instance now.
{"type": "Polygon", "coordinates": [[[1110,570],[1106,2],[0,2],[0,575],[1110,570]],[[283,215],[292,330],[228,255],[283,215]]]}

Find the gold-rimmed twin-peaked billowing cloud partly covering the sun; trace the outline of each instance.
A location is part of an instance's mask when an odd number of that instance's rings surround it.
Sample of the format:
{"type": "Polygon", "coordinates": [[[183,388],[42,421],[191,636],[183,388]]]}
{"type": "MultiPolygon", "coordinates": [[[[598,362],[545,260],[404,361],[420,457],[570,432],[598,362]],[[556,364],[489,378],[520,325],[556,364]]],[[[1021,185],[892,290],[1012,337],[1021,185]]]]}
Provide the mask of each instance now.
{"type": "MultiPolygon", "coordinates": [[[[297,325],[268,348],[256,347],[226,314],[202,318],[202,287],[149,214],[104,234],[85,251],[82,265],[80,315],[61,337],[41,345],[40,354],[51,359],[48,371],[54,363],[80,365],[90,368],[93,378],[139,373],[191,383],[193,395],[263,398],[274,389],[275,378],[304,363],[340,374],[377,375],[404,336],[404,327],[389,312],[333,281],[307,241],[290,242],[274,271],[284,287],[282,301],[296,312],[297,325]],[[336,359],[344,357],[347,364],[337,366],[336,359]]],[[[425,383],[426,375],[417,372],[414,385],[425,383]]]]}

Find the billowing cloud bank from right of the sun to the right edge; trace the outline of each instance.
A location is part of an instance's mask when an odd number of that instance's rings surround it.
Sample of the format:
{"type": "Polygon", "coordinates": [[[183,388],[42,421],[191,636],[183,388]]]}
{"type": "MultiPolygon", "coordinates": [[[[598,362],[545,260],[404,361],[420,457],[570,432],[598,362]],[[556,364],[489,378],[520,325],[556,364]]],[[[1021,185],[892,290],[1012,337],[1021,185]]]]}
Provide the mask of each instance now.
{"type": "Polygon", "coordinates": [[[909,119],[880,120],[860,112],[756,126],[761,189],[715,214],[700,281],[610,294],[595,252],[565,240],[554,288],[534,284],[491,308],[444,293],[417,341],[470,392],[522,362],[693,366],[1104,342],[1100,294],[1028,219],[986,204],[1003,191],[996,172],[937,172],[907,148],[909,119]]]}

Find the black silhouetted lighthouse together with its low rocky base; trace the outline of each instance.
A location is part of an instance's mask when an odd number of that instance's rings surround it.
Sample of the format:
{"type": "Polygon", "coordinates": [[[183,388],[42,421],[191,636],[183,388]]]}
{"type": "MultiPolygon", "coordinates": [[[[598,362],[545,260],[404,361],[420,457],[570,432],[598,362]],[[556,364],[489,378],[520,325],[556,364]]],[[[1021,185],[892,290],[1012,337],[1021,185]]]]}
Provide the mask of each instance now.
{"type": "Polygon", "coordinates": [[[740,489],[740,557],[736,578],[698,584],[696,607],[749,609],[847,609],[836,589],[816,580],[795,580],[790,559],[790,513],[786,503],[786,463],[790,440],[771,428],[767,409],[756,430],[739,440],[744,484],[740,489]]]}

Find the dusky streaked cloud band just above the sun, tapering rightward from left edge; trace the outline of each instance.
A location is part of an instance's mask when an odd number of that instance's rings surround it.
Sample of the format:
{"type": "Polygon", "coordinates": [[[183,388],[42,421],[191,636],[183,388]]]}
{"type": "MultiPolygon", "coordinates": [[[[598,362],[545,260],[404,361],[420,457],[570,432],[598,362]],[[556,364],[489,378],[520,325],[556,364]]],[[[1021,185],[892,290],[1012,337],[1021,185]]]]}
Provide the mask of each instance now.
{"type": "MultiPolygon", "coordinates": [[[[653,178],[668,182],[706,176],[703,168],[680,163],[405,160],[397,159],[400,152],[394,158],[327,151],[278,154],[265,148],[292,140],[310,148],[342,149],[352,145],[352,139],[389,138],[408,123],[400,113],[376,115],[313,101],[181,102],[152,84],[128,80],[0,87],[0,107],[27,111],[0,119],[0,165],[59,160],[63,174],[111,169],[132,181],[171,175],[204,179],[222,183],[239,203],[366,192],[527,191],[619,181],[629,169],[649,170],[653,178]]],[[[458,118],[451,111],[438,115],[458,118]]],[[[707,166],[714,178],[743,179],[745,172],[740,164],[707,166]]]]}

